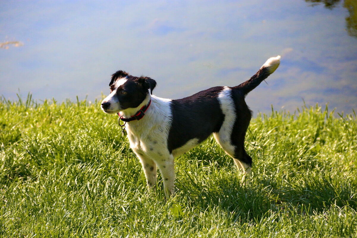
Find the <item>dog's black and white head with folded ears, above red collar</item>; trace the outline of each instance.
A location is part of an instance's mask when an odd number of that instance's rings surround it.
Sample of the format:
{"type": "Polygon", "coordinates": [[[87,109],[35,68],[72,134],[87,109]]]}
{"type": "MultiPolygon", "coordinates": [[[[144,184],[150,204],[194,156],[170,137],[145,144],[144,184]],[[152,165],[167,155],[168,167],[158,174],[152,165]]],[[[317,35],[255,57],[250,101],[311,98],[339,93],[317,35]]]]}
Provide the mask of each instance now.
{"type": "Polygon", "coordinates": [[[149,77],[135,77],[122,70],[116,71],[109,83],[110,95],[102,101],[102,110],[113,114],[139,107],[151,96],[155,86],[156,81],[149,77]]]}

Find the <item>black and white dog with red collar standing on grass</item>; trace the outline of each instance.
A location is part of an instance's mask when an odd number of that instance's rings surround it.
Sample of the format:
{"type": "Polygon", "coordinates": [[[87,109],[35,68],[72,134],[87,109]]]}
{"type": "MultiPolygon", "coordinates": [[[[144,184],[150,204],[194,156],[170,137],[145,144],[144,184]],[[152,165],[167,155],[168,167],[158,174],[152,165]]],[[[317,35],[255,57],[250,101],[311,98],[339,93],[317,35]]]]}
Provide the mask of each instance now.
{"type": "Polygon", "coordinates": [[[149,191],[155,189],[159,167],[165,196],[174,192],[174,158],[206,140],[212,133],[238,169],[251,171],[252,158],[244,137],[252,117],[244,98],[272,74],[280,56],[268,59],[246,82],[235,87],[212,87],[181,99],[152,95],[156,81],[125,71],[112,75],[110,95],[101,103],[108,114],[126,122],[130,147],[139,157],[149,191]]]}

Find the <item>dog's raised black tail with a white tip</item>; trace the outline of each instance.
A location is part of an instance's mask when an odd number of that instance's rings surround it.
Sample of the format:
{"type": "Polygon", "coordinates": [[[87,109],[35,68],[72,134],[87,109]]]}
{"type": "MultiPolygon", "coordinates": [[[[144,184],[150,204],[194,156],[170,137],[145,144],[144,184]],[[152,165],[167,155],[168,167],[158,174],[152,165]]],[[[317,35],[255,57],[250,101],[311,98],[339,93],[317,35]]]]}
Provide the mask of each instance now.
{"type": "Polygon", "coordinates": [[[271,75],[280,65],[280,55],[276,57],[271,57],[265,64],[258,70],[258,72],[253,75],[249,80],[241,83],[233,88],[240,89],[244,96],[246,96],[250,91],[256,88],[263,80],[265,80],[269,75],[271,75]]]}

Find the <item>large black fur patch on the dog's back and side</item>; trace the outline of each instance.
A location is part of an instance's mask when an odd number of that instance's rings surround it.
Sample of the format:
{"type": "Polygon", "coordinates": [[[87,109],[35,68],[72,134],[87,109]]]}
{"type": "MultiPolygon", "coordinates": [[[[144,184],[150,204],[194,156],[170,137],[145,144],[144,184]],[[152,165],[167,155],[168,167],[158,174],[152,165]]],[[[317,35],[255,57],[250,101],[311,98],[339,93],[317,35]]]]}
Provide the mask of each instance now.
{"type": "Polygon", "coordinates": [[[217,95],[222,88],[212,87],[189,97],[172,100],[172,124],[167,142],[170,153],[191,139],[197,138],[200,143],[212,132],[220,130],[224,115],[217,95]]]}

